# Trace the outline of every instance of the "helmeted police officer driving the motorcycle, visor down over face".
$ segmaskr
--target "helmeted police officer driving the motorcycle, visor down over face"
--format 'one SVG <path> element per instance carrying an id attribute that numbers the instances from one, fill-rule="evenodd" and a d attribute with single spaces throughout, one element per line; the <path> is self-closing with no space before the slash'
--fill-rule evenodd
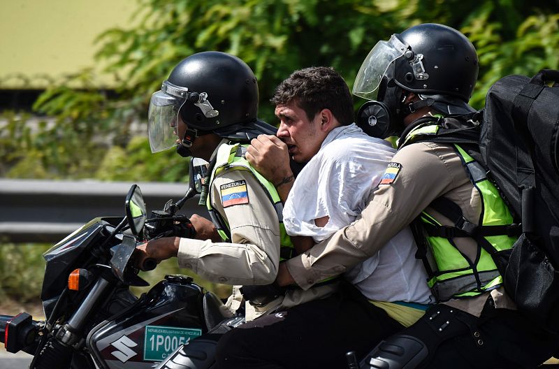
<path id="1" fill-rule="evenodd" d="M 180 61 L 152 95 L 149 136 L 152 152 L 176 147 L 183 157 L 210 162 L 210 222 L 194 215 L 196 239 L 150 240 L 138 247 L 140 259 L 178 257 L 178 264 L 206 280 L 224 284 L 270 284 L 279 260 L 291 256 L 282 237 L 281 202 L 272 184 L 250 168 L 243 144 L 275 128 L 257 120 L 256 77 L 245 62 L 223 52 L 200 52 Z M 183 237 L 181 237 L 183 236 Z M 234 289 L 228 307 L 242 296 Z M 252 306 L 252 305 L 251 305 Z M 250 306 L 249 306 L 250 307 Z M 256 317 L 251 310 L 248 319 Z"/>

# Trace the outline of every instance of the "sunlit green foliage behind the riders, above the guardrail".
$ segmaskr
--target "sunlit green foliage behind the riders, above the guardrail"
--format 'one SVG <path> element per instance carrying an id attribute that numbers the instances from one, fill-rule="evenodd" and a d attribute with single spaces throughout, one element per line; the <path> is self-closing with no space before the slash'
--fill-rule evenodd
<path id="1" fill-rule="evenodd" d="M 7 113 L 0 175 L 23 178 L 183 180 L 180 158 L 151 155 L 134 124 L 145 124 L 150 95 L 178 61 L 203 50 L 230 52 L 259 79 L 260 115 L 275 123 L 268 102 L 293 70 L 330 65 L 353 84 L 361 61 L 380 39 L 421 22 L 463 31 L 477 47 L 481 70 L 472 105 L 511 74 L 558 68 L 558 1 L 520 0 L 138 0 L 138 26 L 97 38 L 96 58 L 119 81 L 113 93 L 92 87 L 86 68 L 36 101 L 51 117 L 31 129 L 29 116 Z M 17 121 L 17 124 L 15 124 Z M 32 133 L 31 133 L 32 132 Z M 145 132 L 145 131 L 143 131 Z M 145 133 L 140 133 L 145 134 Z M 146 146 L 147 147 L 147 146 Z M 134 169 L 133 169 L 134 168 Z"/>

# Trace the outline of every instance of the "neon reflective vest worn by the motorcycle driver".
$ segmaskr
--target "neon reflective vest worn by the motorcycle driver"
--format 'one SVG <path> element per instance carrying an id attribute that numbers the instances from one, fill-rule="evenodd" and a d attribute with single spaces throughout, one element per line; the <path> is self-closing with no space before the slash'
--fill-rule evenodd
<path id="1" fill-rule="evenodd" d="M 279 238 L 280 238 L 280 249 L 279 249 L 279 259 L 286 260 L 291 259 L 295 255 L 295 249 L 291 243 L 291 238 L 285 231 L 283 223 L 283 203 L 277 194 L 272 182 L 263 178 L 263 176 L 258 173 L 250 163 L 245 159 L 245 152 L 248 145 L 240 145 L 240 143 L 234 144 L 223 144 L 217 149 L 217 156 L 215 161 L 215 166 L 210 175 L 210 186 L 215 178 L 215 175 L 219 175 L 222 171 L 249 171 L 254 175 L 254 177 L 261 184 L 262 188 L 268 194 L 268 198 L 272 202 L 277 213 L 277 219 L 279 219 Z M 210 191 L 210 196 L 206 201 L 206 206 L 208 207 L 208 212 L 210 212 L 210 217 L 212 222 L 217 227 L 217 232 L 219 236 L 222 236 L 223 240 L 231 240 L 231 232 L 229 230 L 229 225 L 226 220 L 219 214 L 214 208 L 212 208 L 212 191 Z"/>

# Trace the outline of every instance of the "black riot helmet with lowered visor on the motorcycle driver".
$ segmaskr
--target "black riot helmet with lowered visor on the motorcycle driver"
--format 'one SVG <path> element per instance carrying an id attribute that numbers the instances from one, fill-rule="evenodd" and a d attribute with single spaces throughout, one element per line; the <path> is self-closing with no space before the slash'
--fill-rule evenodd
<path id="1" fill-rule="evenodd" d="M 216 51 L 191 55 L 152 95 L 148 114 L 152 152 L 174 147 L 177 139 L 181 142 L 177 149 L 189 148 L 197 136 L 210 132 L 233 140 L 273 134 L 273 126 L 256 119 L 258 101 L 256 77 L 244 61 Z M 179 116 L 188 129 L 177 138 Z"/>

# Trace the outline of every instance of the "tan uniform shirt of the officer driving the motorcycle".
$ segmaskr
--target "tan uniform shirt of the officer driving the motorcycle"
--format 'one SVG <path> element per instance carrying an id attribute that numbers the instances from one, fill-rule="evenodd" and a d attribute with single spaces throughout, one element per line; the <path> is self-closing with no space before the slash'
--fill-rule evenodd
<path id="1" fill-rule="evenodd" d="M 222 186 L 242 180 L 247 186 L 248 202 L 224 207 Z M 270 284 L 275 280 L 279 265 L 279 219 L 266 190 L 249 171 L 222 171 L 215 176 L 210 191 L 212 207 L 229 224 L 231 243 L 181 238 L 178 264 L 205 280 L 237 285 L 227 303 L 234 312 L 242 301 L 238 287 Z M 247 303 L 246 318 L 249 321 L 269 310 L 299 305 L 327 296 L 332 291 L 330 285 L 308 291 L 288 291 L 286 296 L 259 308 Z"/>

